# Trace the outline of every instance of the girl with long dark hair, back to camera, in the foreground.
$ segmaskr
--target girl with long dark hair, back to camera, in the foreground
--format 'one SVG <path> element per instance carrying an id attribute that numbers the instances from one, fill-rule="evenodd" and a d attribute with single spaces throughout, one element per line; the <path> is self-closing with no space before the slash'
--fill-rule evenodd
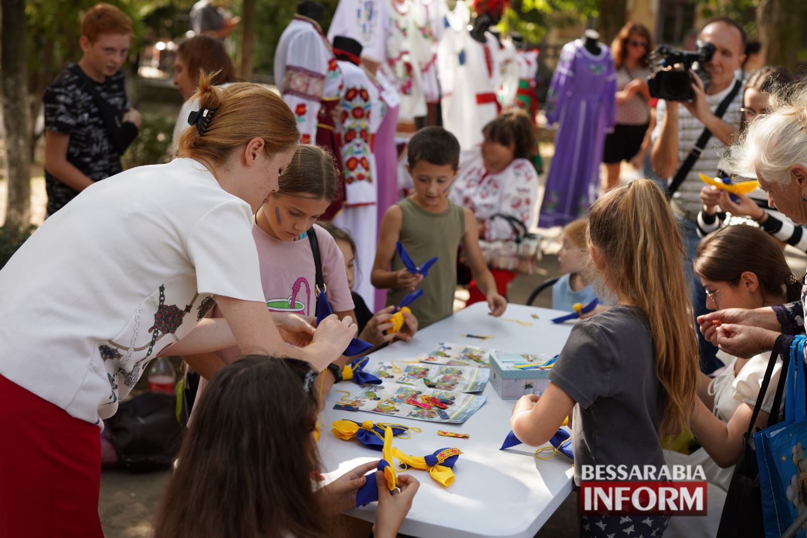
<path id="1" fill-rule="evenodd" d="M 399 474 L 400 491 L 390 494 L 383 473 L 365 476 L 378 463 L 370 461 L 328 486 L 312 481 L 320 476 L 315 378 L 306 362 L 262 356 L 216 373 L 182 441 L 154 538 L 339 536 L 338 515 L 367 480 L 382 486 L 374 536 L 397 536 L 415 478 Z"/>

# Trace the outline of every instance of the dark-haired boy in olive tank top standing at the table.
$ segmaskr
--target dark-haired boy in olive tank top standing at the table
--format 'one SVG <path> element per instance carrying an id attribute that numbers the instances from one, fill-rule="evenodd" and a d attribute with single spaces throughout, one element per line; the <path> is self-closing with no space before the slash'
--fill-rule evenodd
<path id="1" fill-rule="evenodd" d="M 462 242 L 479 290 L 485 294 L 491 315 L 504 314 L 507 301 L 496 292 L 493 275 L 479 250 L 479 227 L 469 209 L 448 199 L 457 175 L 459 143 L 442 127 L 425 127 L 409 140 L 407 170 L 415 194 L 391 206 L 381 221 L 370 282 L 387 288 L 387 306 L 398 304 L 406 294 L 423 290 L 423 296 L 409 307 L 420 328 L 448 317 L 454 311 L 457 288 L 457 248 Z M 433 256 L 439 260 L 429 276 L 409 273 L 395 252 L 400 241 L 415 263 Z"/>

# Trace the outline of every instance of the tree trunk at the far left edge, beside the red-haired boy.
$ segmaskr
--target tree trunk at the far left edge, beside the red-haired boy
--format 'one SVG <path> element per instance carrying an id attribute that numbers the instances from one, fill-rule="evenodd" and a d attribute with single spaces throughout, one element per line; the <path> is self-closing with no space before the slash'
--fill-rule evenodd
<path id="1" fill-rule="evenodd" d="M 31 136 L 28 131 L 25 1 L 2 0 L 2 112 L 6 134 L 6 226 L 31 223 Z"/>

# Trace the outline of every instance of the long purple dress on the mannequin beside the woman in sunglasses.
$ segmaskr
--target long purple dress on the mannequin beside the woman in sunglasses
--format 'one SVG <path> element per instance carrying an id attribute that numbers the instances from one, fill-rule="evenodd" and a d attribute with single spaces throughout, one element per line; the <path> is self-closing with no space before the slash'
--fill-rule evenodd
<path id="1" fill-rule="evenodd" d="M 539 227 L 563 226 L 596 199 L 605 131 L 613 128 L 617 77 L 611 52 L 588 52 L 580 40 L 563 46 L 546 97 L 546 121 L 558 123 Z"/>

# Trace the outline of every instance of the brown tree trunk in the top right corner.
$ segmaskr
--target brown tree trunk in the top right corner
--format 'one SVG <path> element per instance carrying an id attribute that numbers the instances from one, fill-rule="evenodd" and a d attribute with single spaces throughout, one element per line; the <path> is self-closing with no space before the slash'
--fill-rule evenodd
<path id="1" fill-rule="evenodd" d="M 805 14 L 804 0 L 759 0 L 756 19 L 766 65 L 784 65 L 797 72 Z"/>

